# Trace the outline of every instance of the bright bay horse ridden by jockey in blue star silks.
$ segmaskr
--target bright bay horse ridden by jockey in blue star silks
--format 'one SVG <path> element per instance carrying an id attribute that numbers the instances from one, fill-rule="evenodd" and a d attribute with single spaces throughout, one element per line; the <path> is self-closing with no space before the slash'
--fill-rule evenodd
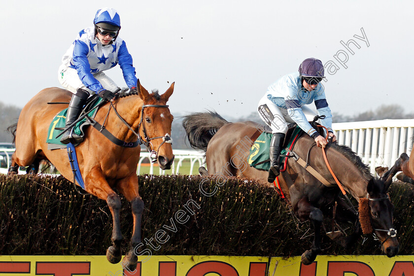
<path id="1" fill-rule="evenodd" d="M 158 160 L 160 168 L 170 169 L 174 155 L 168 140 L 173 116 L 166 103 L 173 90 L 174 83 L 162 95 L 159 95 L 158 91 L 149 93 L 138 80 L 137 92 L 124 94 L 122 98 L 116 97 L 112 102 L 106 102 L 98 109 L 95 120 L 126 145 L 136 143 L 137 139 L 143 141 L 152 149 L 153 158 Z M 39 161 L 48 160 L 66 179 L 74 181 L 67 149 L 49 150 L 46 143 L 50 123 L 55 115 L 66 107 L 63 104 L 48 102 L 69 103 L 71 95 L 71 92 L 64 89 L 46 88 L 25 105 L 17 126 L 12 129 L 16 151 L 12 155 L 11 166 L 33 166 L 37 172 Z M 138 132 L 139 137 L 133 130 Z M 75 151 L 85 190 L 106 200 L 112 214 L 112 246 L 107 249 L 106 257 L 114 264 L 119 263 L 122 258 L 123 236 L 119 214 L 121 199 L 113 189 L 116 188 L 131 203 L 134 218 L 133 234 L 131 247 L 124 257 L 123 264 L 130 271 L 134 271 L 138 261 L 134 248 L 141 243 L 141 215 L 144 209 L 144 203 L 138 193 L 136 174 L 141 149 L 139 146 L 115 145 L 100 131 L 89 126 L 85 131 L 85 139 Z"/>

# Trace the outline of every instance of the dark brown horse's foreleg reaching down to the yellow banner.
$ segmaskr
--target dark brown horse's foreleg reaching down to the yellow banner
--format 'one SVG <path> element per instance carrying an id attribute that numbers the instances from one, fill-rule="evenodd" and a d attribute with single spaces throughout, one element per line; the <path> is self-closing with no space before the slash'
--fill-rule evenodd
<path id="1" fill-rule="evenodd" d="M 322 211 L 311 205 L 308 198 L 302 198 L 297 205 L 297 214 L 301 221 L 311 220 L 315 231 L 312 247 L 302 254 L 301 262 L 304 265 L 310 265 L 315 259 L 320 250 L 320 228 L 322 225 L 323 215 Z"/>

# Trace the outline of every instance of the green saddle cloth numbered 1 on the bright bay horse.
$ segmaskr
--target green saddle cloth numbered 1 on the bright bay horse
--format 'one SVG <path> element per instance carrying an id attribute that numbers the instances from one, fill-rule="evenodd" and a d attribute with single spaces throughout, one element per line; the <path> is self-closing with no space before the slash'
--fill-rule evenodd
<path id="1" fill-rule="evenodd" d="M 102 101 L 101 98 L 99 98 L 98 100 L 96 100 L 91 107 L 89 107 L 89 109 L 94 108 L 95 106 L 97 106 L 100 102 Z M 97 112 L 98 108 L 91 110 L 90 112 L 88 112 L 88 116 L 90 118 L 95 118 L 96 112 Z M 68 108 L 65 108 L 64 110 L 62 110 L 61 112 L 59 112 L 52 120 L 52 123 L 50 123 L 49 125 L 49 130 L 48 130 L 48 135 L 47 135 L 47 139 L 46 139 L 46 143 L 49 144 L 55 144 L 55 145 L 62 145 L 65 146 L 66 145 L 62 144 L 60 142 L 60 139 L 62 136 L 59 136 L 58 138 L 56 138 L 56 136 L 58 136 L 63 130 L 61 129 L 56 129 L 56 128 L 65 128 L 65 124 L 66 124 L 66 114 L 68 113 Z M 78 134 L 79 136 L 83 137 L 85 135 L 83 128 L 86 127 L 87 125 L 89 125 L 88 122 L 86 122 L 87 118 L 83 118 L 82 120 L 80 120 L 79 122 L 77 122 L 73 128 L 73 131 Z"/>

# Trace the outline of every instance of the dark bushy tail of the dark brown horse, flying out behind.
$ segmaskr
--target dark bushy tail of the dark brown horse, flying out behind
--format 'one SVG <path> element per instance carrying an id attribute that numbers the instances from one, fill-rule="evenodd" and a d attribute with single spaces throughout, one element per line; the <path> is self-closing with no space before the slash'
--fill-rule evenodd
<path id="1" fill-rule="evenodd" d="M 184 116 L 182 126 L 187 133 L 190 146 L 197 150 L 207 151 L 208 142 L 217 130 L 227 122 L 215 111 L 195 112 Z"/>

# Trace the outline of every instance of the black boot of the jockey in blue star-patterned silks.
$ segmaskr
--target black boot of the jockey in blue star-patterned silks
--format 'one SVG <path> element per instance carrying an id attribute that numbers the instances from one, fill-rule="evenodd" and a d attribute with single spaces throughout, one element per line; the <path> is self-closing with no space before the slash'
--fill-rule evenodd
<path id="1" fill-rule="evenodd" d="M 68 127 L 70 124 L 76 121 L 76 119 L 79 117 L 79 114 L 82 111 L 83 105 L 86 102 L 86 99 L 88 98 L 89 94 L 85 91 L 78 90 L 76 94 L 72 95 L 72 98 L 70 99 L 68 112 L 66 114 L 66 124 L 65 128 Z M 61 138 L 62 144 L 77 144 L 82 141 L 82 137 L 77 135 L 73 131 L 73 127 L 71 129 L 68 129 Z"/>

